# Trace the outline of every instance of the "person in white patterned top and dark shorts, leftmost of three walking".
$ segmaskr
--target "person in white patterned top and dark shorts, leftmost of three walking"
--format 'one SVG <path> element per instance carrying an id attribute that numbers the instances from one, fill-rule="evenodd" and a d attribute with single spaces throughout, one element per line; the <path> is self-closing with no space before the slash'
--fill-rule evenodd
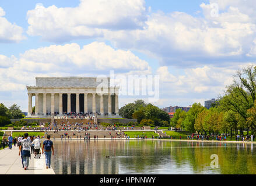
<path id="1" fill-rule="evenodd" d="M 20 151 L 22 150 L 22 159 L 23 159 L 23 164 L 24 164 L 24 170 L 27 170 L 29 167 L 29 159 L 30 159 L 30 148 L 31 148 L 31 140 L 29 140 L 27 137 L 29 134 L 25 133 L 24 134 L 24 140 L 22 140 L 22 147 L 20 146 L 19 150 L 19 156 L 20 156 Z"/>

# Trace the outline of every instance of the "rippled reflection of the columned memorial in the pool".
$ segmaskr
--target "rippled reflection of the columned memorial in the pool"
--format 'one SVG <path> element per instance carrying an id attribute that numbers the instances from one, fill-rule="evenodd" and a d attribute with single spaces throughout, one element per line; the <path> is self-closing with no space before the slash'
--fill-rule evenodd
<path id="1" fill-rule="evenodd" d="M 55 141 L 52 168 L 56 174 L 118 174 L 116 143 L 106 141 Z"/>

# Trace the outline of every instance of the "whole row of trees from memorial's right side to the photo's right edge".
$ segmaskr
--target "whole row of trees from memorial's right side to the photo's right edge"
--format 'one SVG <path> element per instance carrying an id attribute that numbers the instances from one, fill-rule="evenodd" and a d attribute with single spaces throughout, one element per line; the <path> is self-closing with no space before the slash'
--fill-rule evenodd
<path id="1" fill-rule="evenodd" d="M 124 118 L 137 119 L 140 126 L 172 126 L 190 133 L 247 134 L 256 132 L 256 66 L 237 70 L 233 83 L 218 96 L 218 101 L 208 110 L 194 103 L 185 112 L 176 110 L 174 117 L 142 99 L 128 103 L 120 109 Z"/>

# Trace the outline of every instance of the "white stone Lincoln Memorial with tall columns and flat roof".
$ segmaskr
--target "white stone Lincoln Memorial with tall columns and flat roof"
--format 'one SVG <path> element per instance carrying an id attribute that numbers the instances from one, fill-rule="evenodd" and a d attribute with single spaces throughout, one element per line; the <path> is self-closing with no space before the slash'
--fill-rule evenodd
<path id="1" fill-rule="evenodd" d="M 35 116 L 54 113 L 62 116 L 71 112 L 118 116 L 118 90 L 110 87 L 110 78 L 36 77 L 36 86 L 27 86 L 28 116 L 32 114 L 33 96 Z"/>

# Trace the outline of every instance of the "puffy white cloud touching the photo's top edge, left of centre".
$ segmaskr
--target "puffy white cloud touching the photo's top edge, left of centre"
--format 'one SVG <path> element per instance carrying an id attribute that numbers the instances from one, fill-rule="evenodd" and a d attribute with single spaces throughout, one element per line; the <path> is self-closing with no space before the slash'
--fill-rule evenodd
<path id="1" fill-rule="evenodd" d="M 103 31 L 142 28 L 144 0 L 80 0 L 75 8 L 45 8 L 39 3 L 27 12 L 27 33 L 44 40 L 63 42 L 74 38 L 102 37 Z"/>

